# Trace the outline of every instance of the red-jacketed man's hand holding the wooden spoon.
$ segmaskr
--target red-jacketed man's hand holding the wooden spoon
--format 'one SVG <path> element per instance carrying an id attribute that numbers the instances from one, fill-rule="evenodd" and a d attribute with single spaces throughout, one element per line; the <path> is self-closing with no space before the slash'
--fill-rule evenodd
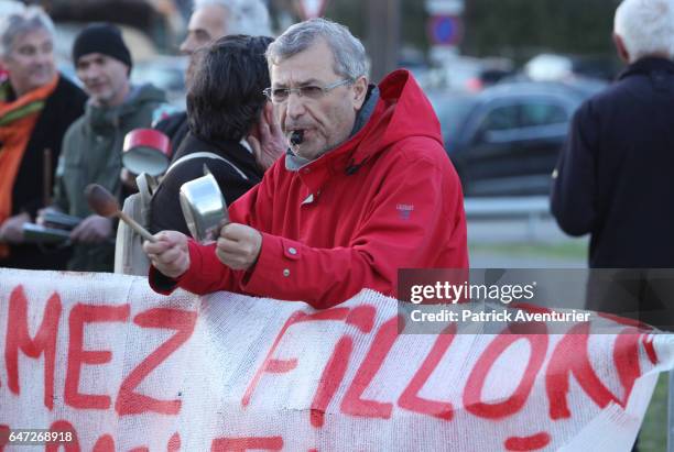
<path id="1" fill-rule="evenodd" d="M 143 243 L 143 251 L 154 268 L 170 278 L 177 278 L 189 268 L 187 235 L 177 231 L 162 231 L 154 235 L 156 242 Z"/>

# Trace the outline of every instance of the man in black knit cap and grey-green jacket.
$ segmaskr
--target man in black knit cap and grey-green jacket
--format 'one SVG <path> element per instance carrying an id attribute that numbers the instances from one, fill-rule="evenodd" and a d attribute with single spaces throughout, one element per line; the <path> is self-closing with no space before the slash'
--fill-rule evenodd
<path id="1" fill-rule="evenodd" d="M 84 29 L 73 45 L 73 62 L 89 102 L 65 135 L 54 208 L 84 219 L 70 234 L 75 245 L 68 269 L 111 272 L 115 225 L 89 210 L 84 189 L 99 184 L 120 202 L 129 195 L 119 178 L 123 137 L 133 129 L 149 128 L 166 99 L 152 85 L 131 85 L 131 54 L 112 24 Z"/>

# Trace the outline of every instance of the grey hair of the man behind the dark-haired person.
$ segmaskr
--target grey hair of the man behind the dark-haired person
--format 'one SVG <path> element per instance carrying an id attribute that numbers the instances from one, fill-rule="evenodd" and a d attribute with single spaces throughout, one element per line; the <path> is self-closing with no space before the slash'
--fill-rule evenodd
<path id="1" fill-rule="evenodd" d="M 227 10 L 227 34 L 271 36 L 269 10 L 262 0 L 195 0 L 194 9 L 211 4 Z"/>

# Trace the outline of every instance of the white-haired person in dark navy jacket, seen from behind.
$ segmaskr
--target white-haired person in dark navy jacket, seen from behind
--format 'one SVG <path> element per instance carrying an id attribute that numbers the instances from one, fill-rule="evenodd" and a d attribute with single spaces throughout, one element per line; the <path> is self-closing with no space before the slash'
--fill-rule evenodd
<path id="1" fill-rule="evenodd" d="M 671 329 L 674 1 L 624 0 L 613 41 L 628 66 L 575 113 L 552 212 L 566 233 L 590 234 L 588 309 Z"/>

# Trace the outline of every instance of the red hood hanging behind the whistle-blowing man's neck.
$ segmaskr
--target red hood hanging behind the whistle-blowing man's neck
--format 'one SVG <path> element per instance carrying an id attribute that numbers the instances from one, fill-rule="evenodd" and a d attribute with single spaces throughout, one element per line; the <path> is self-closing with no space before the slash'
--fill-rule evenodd
<path id="1" fill-rule="evenodd" d="M 370 121 L 351 140 L 356 144 L 354 164 L 382 152 L 391 144 L 410 136 L 426 136 L 443 144 L 439 121 L 414 77 L 399 69 L 379 84 L 380 98 Z"/>

